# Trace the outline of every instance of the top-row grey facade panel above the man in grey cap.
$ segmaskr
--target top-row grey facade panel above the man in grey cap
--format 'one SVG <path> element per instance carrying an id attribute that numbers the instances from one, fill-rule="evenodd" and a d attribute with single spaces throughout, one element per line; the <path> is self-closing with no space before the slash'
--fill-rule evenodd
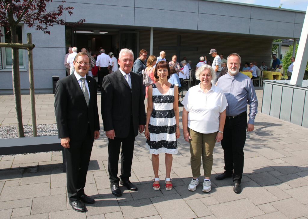
<path id="1" fill-rule="evenodd" d="M 199 1 L 199 13 L 250 18 L 251 6 Z"/>

